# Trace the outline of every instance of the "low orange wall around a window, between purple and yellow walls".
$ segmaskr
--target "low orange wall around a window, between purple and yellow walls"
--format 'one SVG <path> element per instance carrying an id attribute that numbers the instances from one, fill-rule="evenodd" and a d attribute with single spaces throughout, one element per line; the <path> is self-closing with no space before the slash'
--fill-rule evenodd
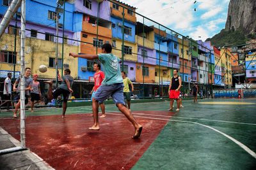
<path id="1" fill-rule="evenodd" d="M 136 82 L 143 83 L 143 74 L 142 74 L 143 64 L 136 64 Z M 145 64 L 145 67 L 148 67 L 148 76 L 144 76 L 145 83 L 155 83 L 155 67 Z M 140 69 L 138 69 L 140 67 Z"/>

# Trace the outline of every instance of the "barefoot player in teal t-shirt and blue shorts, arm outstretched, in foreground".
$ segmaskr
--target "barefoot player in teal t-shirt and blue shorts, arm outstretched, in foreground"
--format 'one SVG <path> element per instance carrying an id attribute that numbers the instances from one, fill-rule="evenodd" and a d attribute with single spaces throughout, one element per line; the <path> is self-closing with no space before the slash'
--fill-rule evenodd
<path id="1" fill-rule="evenodd" d="M 81 57 L 84 59 L 95 60 L 99 59 L 104 67 L 105 78 L 102 81 L 102 85 L 96 91 L 95 96 L 92 100 L 92 109 L 93 109 L 93 121 L 94 124 L 90 127 L 90 130 L 99 131 L 99 108 L 98 103 L 103 103 L 109 96 L 113 98 L 118 109 L 124 113 L 125 117 L 132 123 L 134 126 L 135 132 L 133 139 L 139 138 L 142 126 L 136 122 L 135 118 L 132 116 L 131 111 L 125 107 L 124 102 L 124 83 L 123 78 L 121 76 L 119 62 L 120 59 L 111 53 L 112 46 L 109 43 L 102 45 L 102 53 L 98 55 L 91 54 L 75 54 L 69 53 L 72 57 Z"/>

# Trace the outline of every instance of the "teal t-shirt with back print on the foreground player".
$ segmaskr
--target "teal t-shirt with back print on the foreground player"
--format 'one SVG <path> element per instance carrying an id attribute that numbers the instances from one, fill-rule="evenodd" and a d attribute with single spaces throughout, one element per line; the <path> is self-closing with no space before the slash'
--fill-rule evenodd
<path id="1" fill-rule="evenodd" d="M 112 53 L 98 54 L 99 60 L 104 68 L 105 78 L 102 85 L 113 85 L 115 83 L 123 83 L 119 62 L 120 59 Z"/>

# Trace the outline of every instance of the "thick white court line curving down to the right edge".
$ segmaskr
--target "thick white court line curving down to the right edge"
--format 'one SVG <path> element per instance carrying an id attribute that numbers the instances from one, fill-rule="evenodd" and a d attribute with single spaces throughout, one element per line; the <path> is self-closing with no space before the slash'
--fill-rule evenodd
<path id="1" fill-rule="evenodd" d="M 118 116 L 124 116 L 121 114 L 117 114 L 117 113 L 108 113 L 111 115 L 118 115 Z M 141 116 L 134 116 L 134 117 L 139 117 L 139 118 L 149 118 L 149 119 L 153 119 L 153 120 L 166 120 L 166 121 L 172 121 L 172 122 L 183 122 L 183 123 L 189 123 L 189 124 L 196 124 L 196 125 L 202 125 L 204 127 L 207 127 L 208 129 L 211 129 L 212 131 L 218 132 L 220 134 L 222 134 L 223 136 L 225 136 L 226 138 L 230 139 L 231 141 L 233 141 L 234 143 L 236 143 L 238 146 L 240 146 L 241 148 L 243 148 L 243 150 L 245 150 L 247 153 L 249 153 L 250 155 L 252 155 L 253 158 L 256 159 L 256 153 L 253 152 L 252 150 L 250 150 L 250 148 L 248 148 L 247 146 L 245 146 L 243 143 L 237 141 L 236 139 L 232 138 L 231 136 L 229 136 L 228 134 L 225 134 L 224 132 L 218 131 L 217 129 L 214 129 L 213 127 L 210 127 L 209 125 L 204 125 L 204 124 L 199 124 L 197 122 L 190 122 L 190 121 L 184 121 L 184 120 L 170 120 L 170 119 L 165 119 L 165 118 L 152 118 L 152 117 L 141 117 Z"/>

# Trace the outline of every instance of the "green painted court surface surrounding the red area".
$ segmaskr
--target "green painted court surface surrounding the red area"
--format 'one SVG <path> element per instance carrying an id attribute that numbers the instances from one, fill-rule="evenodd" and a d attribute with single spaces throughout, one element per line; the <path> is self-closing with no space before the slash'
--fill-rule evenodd
<path id="1" fill-rule="evenodd" d="M 256 99 L 184 101 L 184 108 L 172 117 L 161 115 L 169 105 L 169 101 L 132 104 L 134 117 L 167 121 L 132 169 L 256 169 Z M 44 108 L 26 115 L 61 117 L 61 111 Z M 118 109 L 109 104 L 107 116 L 108 112 L 115 115 Z M 67 109 L 67 115 L 77 113 L 91 114 L 92 106 Z M 11 116 L 0 113 L 2 118 Z"/>

